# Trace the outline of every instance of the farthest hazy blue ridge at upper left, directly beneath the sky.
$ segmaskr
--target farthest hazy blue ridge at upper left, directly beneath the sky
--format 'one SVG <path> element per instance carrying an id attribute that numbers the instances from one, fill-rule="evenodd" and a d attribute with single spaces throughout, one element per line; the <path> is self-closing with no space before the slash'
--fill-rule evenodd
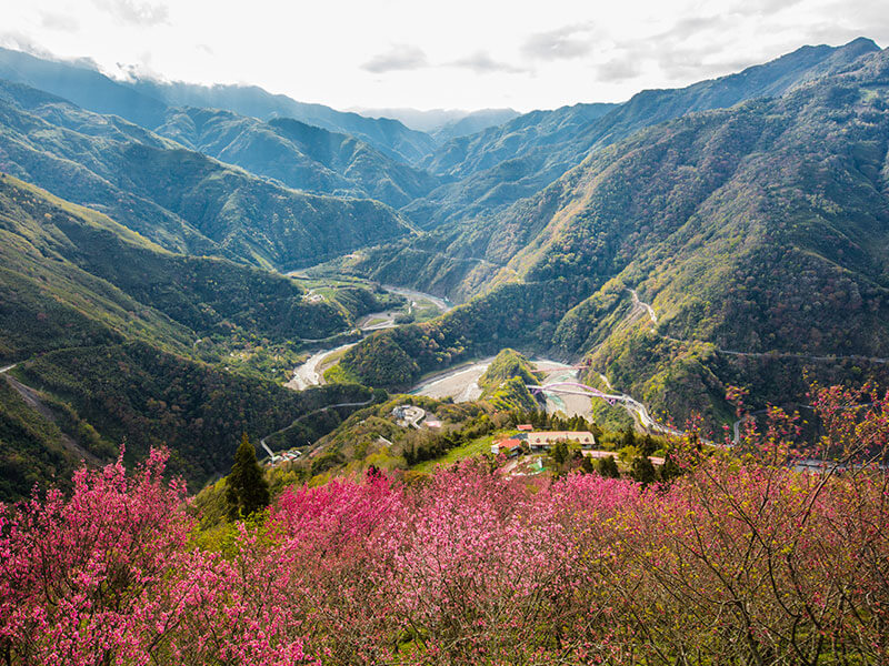
<path id="1" fill-rule="evenodd" d="M 201 107 L 261 120 L 293 118 L 350 134 L 404 162 L 419 161 L 436 144 L 431 137 L 409 130 L 397 120 L 374 120 L 323 104 L 307 104 L 253 85 L 206 87 L 153 79 L 114 81 L 91 63 L 48 60 L 10 49 L 0 49 L 0 79 L 50 92 L 97 113 L 120 115 L 150 130 L 166 121 L 170 107 Z"/>

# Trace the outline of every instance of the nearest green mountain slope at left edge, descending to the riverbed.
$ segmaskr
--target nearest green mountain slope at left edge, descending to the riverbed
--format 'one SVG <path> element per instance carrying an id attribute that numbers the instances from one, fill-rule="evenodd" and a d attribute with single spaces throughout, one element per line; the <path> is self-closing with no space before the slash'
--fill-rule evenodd
<path id="1" fill-rule="evenodd" d="M 227 468 L 241 432 L 259 438 L 369 396 L 344 385 L 297 394 L 226 371 L 236 353 L 349 327 L 339 307 L 281 275 L 170 253 L 9 175 L 0 266 L 0 366 L 16 364 L 0 376 L 4 501 L 83 457 L 113 458 L 123 441 L 132 460 L 166 444 L 200 485 Z"/>

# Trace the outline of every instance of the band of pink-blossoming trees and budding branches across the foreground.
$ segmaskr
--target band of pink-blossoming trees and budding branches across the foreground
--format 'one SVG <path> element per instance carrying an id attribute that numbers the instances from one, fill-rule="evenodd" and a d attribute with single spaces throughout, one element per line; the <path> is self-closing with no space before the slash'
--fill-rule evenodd
<path id="1" fill-rule="evenodd" d="M 847 463 L 889 435 L 886 397 L 856 397 L 817 396 Z M 160 453 L 81 471 L 2 514 L 0 662 L 886 663 L 887 475 L 797 472 L 798 447 L 776 413 L 733 451 L 677 443 L 669 487 L 466 463 L 291 488 L 224 556 Z"/>

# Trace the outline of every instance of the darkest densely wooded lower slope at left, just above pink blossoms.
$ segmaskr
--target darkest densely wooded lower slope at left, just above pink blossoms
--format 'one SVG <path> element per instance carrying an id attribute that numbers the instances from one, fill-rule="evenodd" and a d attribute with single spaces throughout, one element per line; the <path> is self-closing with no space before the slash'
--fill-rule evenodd
<path id="1" fill-rule="evenodd" d="M 129 460 L 154 446 L 192 487 L 227 472 L 239 434 L 259 440 L 329 404 L 361 402 L 356 384 L 293 392 L 168 354 L 140 342 L 63 350 L 24 363 L 26 383 L 59 396 Z"/>

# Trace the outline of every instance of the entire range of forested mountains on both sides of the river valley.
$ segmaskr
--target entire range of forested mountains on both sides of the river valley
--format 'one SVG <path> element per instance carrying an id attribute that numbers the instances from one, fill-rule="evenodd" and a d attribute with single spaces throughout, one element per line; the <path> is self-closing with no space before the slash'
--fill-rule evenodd
<path id="1" fill-rule="evenodd" d="M 803 369 L 886 379 L 887 90 L 889 52 L 857 39 L 623 103 L 402 123 L 2 50 L 0 365 L 27 361 L 96 455 L 133 431 L 140 451 L 188 448 L 176 422 L 201 442 L 176 464 L 201 482 L 239 428 L 283 427 L 308 400 L 232 371 L 234 341 L 336 336 L 372 307 L 311 305 L 280 275 L 323 262 L 467 302 L 350 350 L 368 386 L 518 346 L 718 426 L 729 384 L 761 405 L 798 401 Z M 237 414 L 207 397 L 221 385 Z M 13 421 L 0 441 L 39 458 L 51 437 Z M 32 481 L 12 448 L 9 493 Z"/>

